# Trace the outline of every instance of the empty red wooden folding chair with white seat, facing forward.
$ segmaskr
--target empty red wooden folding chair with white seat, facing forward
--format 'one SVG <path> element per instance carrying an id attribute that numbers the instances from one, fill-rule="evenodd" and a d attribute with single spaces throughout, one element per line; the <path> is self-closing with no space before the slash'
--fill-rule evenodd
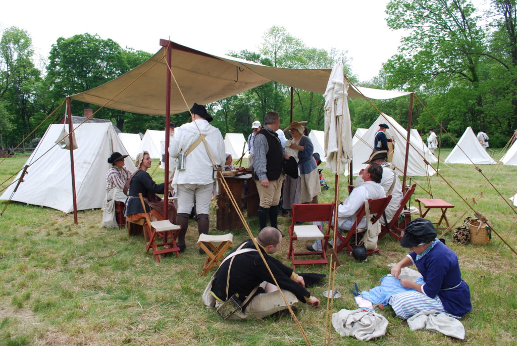
<path id="1" fill-rule="evenodd" d="M 332 220 L 332 212 L 334 210 L 334 203 L 328 204 L 293 204 L 291 213 L 291 225 L 289 227 L 289 251 L 287 259 L 291 258 L 293 261 L 293 268 L 297 265 L 305 264 L 325 264 L 328 266 L 327 260 L 327 244 L 330 234 L 330 224 Z M 297 222 L 311 222 L 323 221 L 328 222 L 327 230 L 323 230 L 319 225 L 297 225 Z M 310 252 L 296 252 L 294 244 L 296 240 L 316 240 L 320 239 L 322 242 L 322 251 Z M 317 255 L 318 259 L 298 260 L 296 256 Z"/>

